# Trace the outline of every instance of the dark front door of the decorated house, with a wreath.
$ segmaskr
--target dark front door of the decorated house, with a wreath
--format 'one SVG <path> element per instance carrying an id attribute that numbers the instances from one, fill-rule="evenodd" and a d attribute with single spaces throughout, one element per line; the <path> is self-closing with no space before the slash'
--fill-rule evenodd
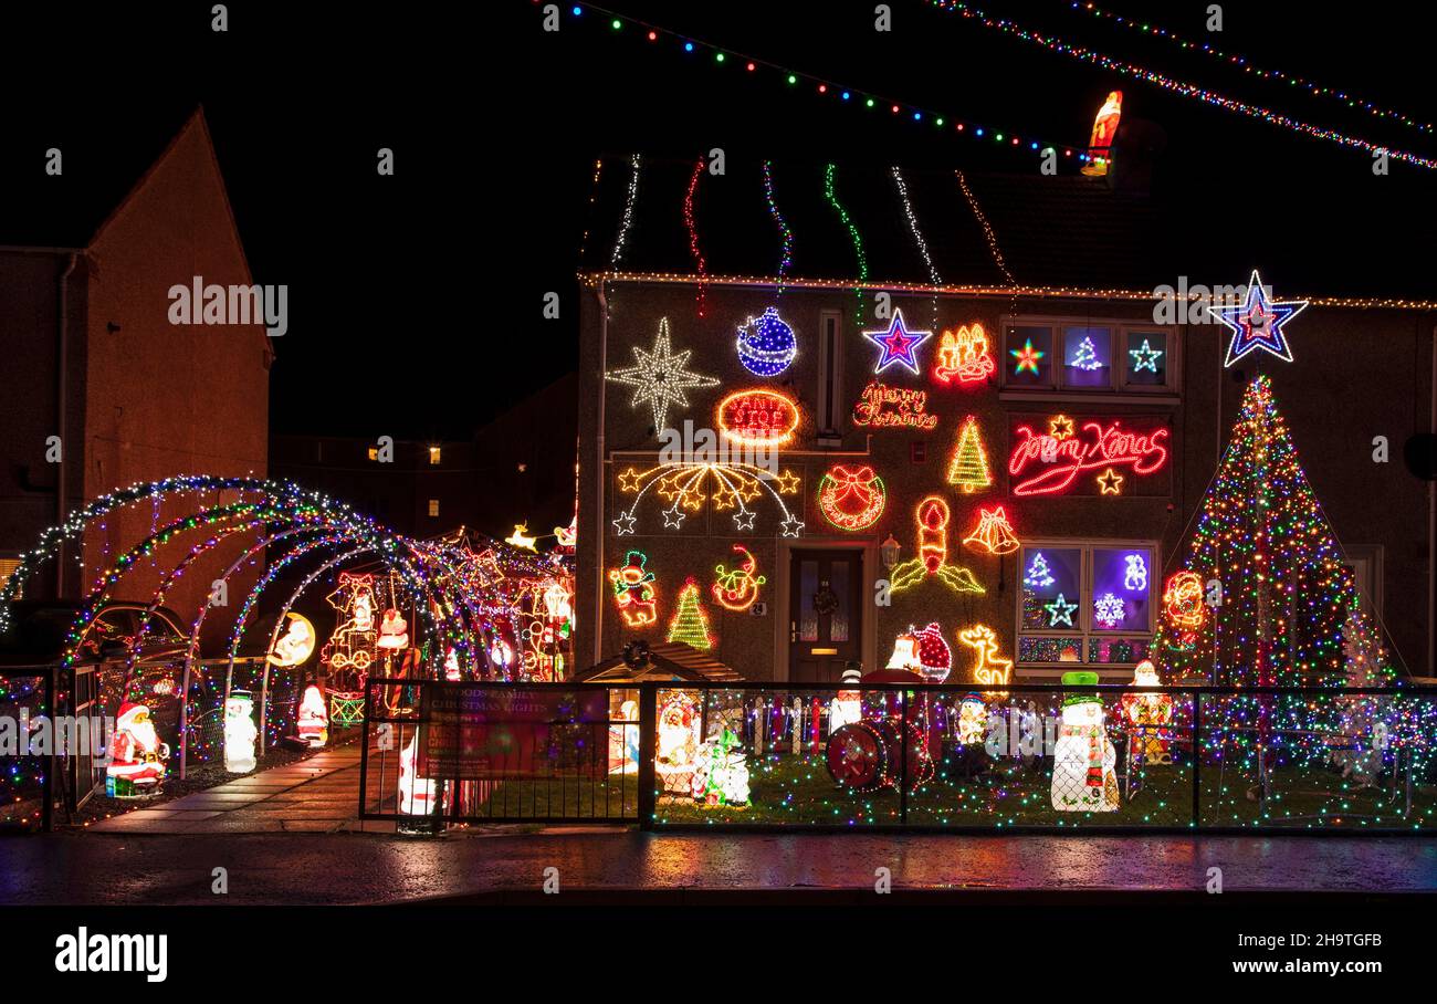
<path id="1" fill-rule="evenodd" d="M 789 680 L 838 683 L 862 659 L 862 551 L 790 552 Z"/>

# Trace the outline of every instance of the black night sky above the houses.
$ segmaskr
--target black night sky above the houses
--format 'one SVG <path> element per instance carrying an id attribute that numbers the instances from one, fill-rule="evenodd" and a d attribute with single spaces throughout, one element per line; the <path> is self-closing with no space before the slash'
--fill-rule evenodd
<path id="1" fill-rule="evenodd" d="M 596 155 L 688 158 L 723 147 L 746 160 L 1036 170 L 1030 155 L 785 92 L 733 62 L 714 68 L 645 45 L 632 29 L 611 37 L 595 12 L 566 14 L 546 35 L 542 4 L 530 0 L 230 4 L 230 30 L 216 35 L 210 6 L 53 4 L 39 20 L 6 6 L 0 243 L 82 240 L 203 104 L 254 278 L 290 286 L 290 332 L 277 342 L 272 383 L 276 432 L 467 436 L 570 371 L 575 327 L 555 335 L 537 314 L 543 292 L 558 289 L 576 318 L 573 269 Z M 1394 164 L 1378 178 L 1365 154 L 1163 93 L 918 0 L 891 4 L 887 35 L 872 30 L 872 3 L 608 6 L 835 83 L 1059 142 L 1083 142 L 1102 96 L 1119 86 L 1125 117 L 1165 134 L 1154 198 L 1194 260 L 1229 255 L 1239 270 L 1260 262 L 1282 275 L 1279 289 L 1437 296 L 1427 273 L 1437 173 Z M 1431 134 L 1255 81 L 1083 17 L 1066 0 L 979 6 L 1437 155 Z M 1112 6 L 1206 37 L 1206 3 Z M 1437 119 L 1423 82 L 1430 40 L 1410 23 L 1410 4 L 1223 9 L 1224 47 Z M 66 150 L 63 186 L 45 187 L 32 170 L 50 145 Z M 397 151 L 392 178 L 375 174 L 379 147 Z"/>

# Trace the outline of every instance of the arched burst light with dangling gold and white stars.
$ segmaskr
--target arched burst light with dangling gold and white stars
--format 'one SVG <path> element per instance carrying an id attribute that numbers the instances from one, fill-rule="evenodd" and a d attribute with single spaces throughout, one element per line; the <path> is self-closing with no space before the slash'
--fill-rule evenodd
<path id="1" fill-rule="evenodd" d="M 667 529 L 681 528 L 688 512 L 697 512 L 711 499 L 714 509 L 733 511 L 736 529 L 752 531 L 757 512 L 749 503 L 767 493 L 783 514 L 779 524 L 783 537 L 798 537 L 803 531 L 803 521 L 783 501 L 785 495 L 798 495 L 800 488 L 800 479 L 792 470 L 775 475 L 766 467 L 737 462 L 661 463 L 648 470 L 629 467 L 619 475 L 618 483 L 621 492 L 635 496 L 634 503 L 612 521 L 618 537 L 634 532 L 639 502 L 650 492 L 671 503 L 662 511 Z M 707 495 L 703 490 L 706 486 Z"/>

